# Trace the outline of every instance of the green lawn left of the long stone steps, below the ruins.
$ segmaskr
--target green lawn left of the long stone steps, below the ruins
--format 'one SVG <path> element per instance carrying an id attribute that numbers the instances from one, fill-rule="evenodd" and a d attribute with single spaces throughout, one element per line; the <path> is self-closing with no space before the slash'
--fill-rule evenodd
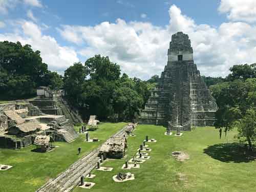
<path id="1" fill-rule="evenodd" d="M 0 148 L 0 164 L 13 166 L 9 170 L 0 172 L 0 191 L 34 192 L 50 178 L 56 177 L 73 162 L 103 143 L 125 124 L 100 124 L 97 131 L 90 132 L 90 137 L 98 137 L 100 142 L 83 142 L 86 138 L 86 135 L 83 134 L 72 143 L 55 142 L 54 145 L 59 147 L 44 154 L 31 152 L 35 148 L 33 145 L 17 151 Z M 78 130 L 79 127 L 75 127 L 75 129 Z M 77 155 L 78 147 L 82 149 L 81 155 Z"/>

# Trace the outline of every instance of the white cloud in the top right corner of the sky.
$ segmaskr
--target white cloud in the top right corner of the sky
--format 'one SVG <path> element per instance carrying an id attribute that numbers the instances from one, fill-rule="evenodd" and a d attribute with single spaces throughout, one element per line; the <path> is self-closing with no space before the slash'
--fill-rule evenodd
<path id="1" fill-rule="evenodd" d="M 233 21 L 256 22 L 255 0 L 221 0 L 219 11 Z"/>

